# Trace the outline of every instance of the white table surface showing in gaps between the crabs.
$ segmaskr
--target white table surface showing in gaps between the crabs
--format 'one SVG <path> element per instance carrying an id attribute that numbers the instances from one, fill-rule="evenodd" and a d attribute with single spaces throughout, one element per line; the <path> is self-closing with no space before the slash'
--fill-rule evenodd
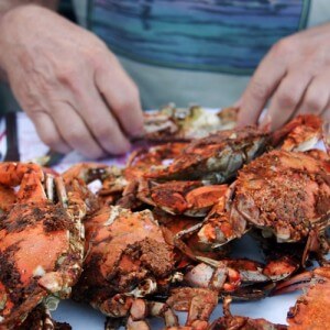
<path id="1" fill-rule="evenodd" d="M 30 161 L 42 155 L 45 155 L 48 151 L 47 146 L 44 145 L 38 139 L 32 122 L 24 113 L 18 114 L 18 128 L 19 128 L 19 150 L 21 161 Z M 6 128 L 3 121 L 0 123 L 0 152 L 2 155 L 6 154 Z M 120 158 L 107 158 L 102 163 L 124 165 L 127 156 Z M 59 172 L 65 170 L 72 164 L 86 161 L 81 155 L 72 153 L 63 158 L 62 163 L 55 168 Z M 243 242 L 245 248 L 243 249 L 246 257 L 258 258 L 255 250 L 251 246 L 249 239 Z M 248 316 L 251 318 L 265 318 L 275 323 L 286 323 L 286 315 L 290 306 L 294 306 L 296 298 L 301 292 L 288 295 L 282 295 L 276 297 L 265 298 L 258 301 L 249 302 L 233 302 L 231 311 L 233 315 Z M 58 321 L 69 322 L 75 330 L 85 329 L 103 329 L 105 316 L 99 311 L 92 309 L 89 306 L 80 305 L 72 300 L 61 301 L 56 311 L 53 316 Z M 221 304 L 216 308 L 211 319 L 216 319 L 222 316 Z M 180 314 L 179 318 L 184 323 L 185 314 Z M 163 329 L 163 322 L 161 320 L 153 319 L 151 321 L 152 329 Z"/>

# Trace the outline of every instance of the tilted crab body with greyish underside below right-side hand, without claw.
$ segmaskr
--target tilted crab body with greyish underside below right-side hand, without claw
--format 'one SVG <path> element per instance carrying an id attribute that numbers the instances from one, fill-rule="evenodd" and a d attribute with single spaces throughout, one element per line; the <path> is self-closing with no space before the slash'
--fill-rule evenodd
<path id="1" fill-rule="evenodd" d="M 220 131 L 193 141 L 166 168 L 145 175 L 154 179 L 200 179 L 222 184 L 230 179 L 243 164 L 261 154 L 267 133 L 248 127 L 242 130 Z"/>

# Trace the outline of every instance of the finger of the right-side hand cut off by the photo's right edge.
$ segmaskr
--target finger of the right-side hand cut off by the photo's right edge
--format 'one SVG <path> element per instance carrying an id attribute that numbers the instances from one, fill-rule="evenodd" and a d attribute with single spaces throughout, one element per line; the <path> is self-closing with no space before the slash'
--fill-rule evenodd
<path id="1" fill-rule="evenodd" d="M 328 106 L 330 90 L 328 88 L 330 75 L 327 73 L 316 76 L 305 92 L 299 105 L 297 114 L 315 113 L 320 114 Z"/>

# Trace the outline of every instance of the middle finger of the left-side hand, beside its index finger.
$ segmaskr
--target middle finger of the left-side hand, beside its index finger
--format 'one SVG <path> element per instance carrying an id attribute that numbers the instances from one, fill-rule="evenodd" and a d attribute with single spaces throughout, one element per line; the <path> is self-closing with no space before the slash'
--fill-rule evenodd
<path id="1" fill-rule="evenodd" d="M 88 86 L 88 94 L 80 95 L 79 114 L 86 125 L 102 146 L 110 154 L 123 154 L 131 147 L 129 140 L 120 129 L 117 119 L 101 98 L 95 86 Z"/>

